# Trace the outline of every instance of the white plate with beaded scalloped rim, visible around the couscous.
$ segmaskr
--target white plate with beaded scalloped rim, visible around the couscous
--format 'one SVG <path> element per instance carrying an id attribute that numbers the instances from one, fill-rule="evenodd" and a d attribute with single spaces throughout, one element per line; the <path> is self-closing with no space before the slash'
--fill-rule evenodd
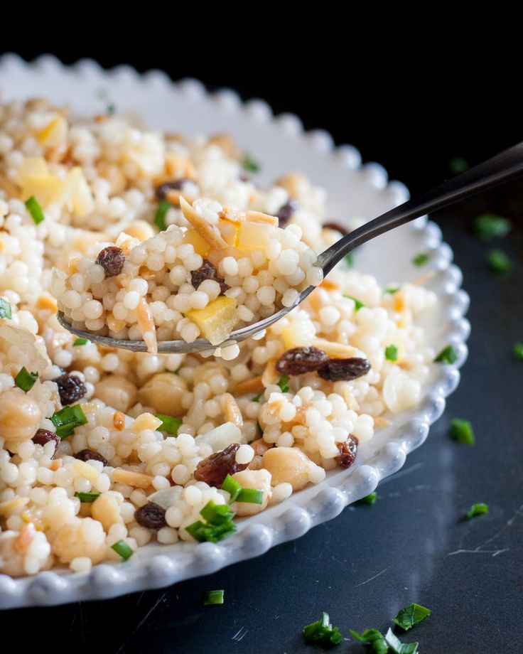
<path id="1" fill-rule="evenodd" d="M 289 170 L 306 172 L 328 191 L 330 216 L 335 220 L 374 218 L 408 198 L 403 184 L 387 183 L 382 166 L 362 166 L 360 154 L 351 146 L 334 149 L 326 132 L 305 133 L 295 116 L 274 117 L 265 102 L 242 104 L 230 90 L 208 95 L 195 80 L 173 84 L 159 71 L 140 76 L 126 66 L 104 71 L 90 60 L 66 68 L 48 55 L 31 64 L 5 55 L 0 59 L 0 88 L 5 100 L 45 96 L 84 114 L 103 109 L 99 92 L 104 90 L 117 101 L 119 111 L 139 112 L 152 127 L 187 134 L 230 132 L 262 162 L 262 183 Z M 468 295 L 460 289 L 461 272 L 451 264 L 451 248 L 441 242 L 439 228 L 426 218 L 379 237 L 357 253 L 357 268 L 388 284 L 419 275 L 411 259 L 423 251 L 432 253 L 436 275 L 428 287 L 439 299 L 424 327 L 436 350 L 452 343 L 458 361 L 453 366 L 433 366 L 419 407 L 394 416 L 390 427 L 363 444 L 354 466 L 328 473 L 318 486 L 240 520 L 237 535 L 216 545 L 148 545 L 129 562 L 97 565 L 90 574 L 58 569 L 23 579 L 0 575 L 0 608 L 114 597 L 215 572 L 334 518 L 346 505 L 372 492 L 380 479 L 399 470 L 406 455 L 424 442 L 429 425 L 445 408 L 446 396 L 458 385 L 470 332 L 463 317 Z"/>

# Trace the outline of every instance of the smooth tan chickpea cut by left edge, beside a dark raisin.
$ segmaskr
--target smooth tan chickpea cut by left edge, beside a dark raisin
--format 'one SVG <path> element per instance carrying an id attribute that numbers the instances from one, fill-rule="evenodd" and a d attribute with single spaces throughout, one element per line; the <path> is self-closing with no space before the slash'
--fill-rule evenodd
<path id="1" fill-rule="evenodd" d="M 0 395 L 0 436 L 7 445 L 32 439 L 41 419 L 40 407 L 23 391 L 6 390 Z"/>

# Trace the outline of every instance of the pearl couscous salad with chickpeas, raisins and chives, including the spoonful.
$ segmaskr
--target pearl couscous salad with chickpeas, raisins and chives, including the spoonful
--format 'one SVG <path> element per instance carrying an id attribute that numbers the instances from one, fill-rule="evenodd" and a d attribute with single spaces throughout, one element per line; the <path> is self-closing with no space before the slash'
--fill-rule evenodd
<path id="1" fill-rule="evenodd" d="M 259 188 L 225 135 L 0 106 L 1 573 L 221 540 L 419 402 L 436 296 L 343 266 L 322 282 L 315 252 L 340 237 L 325 203 L 298 173 Z M 256 341 L 155 353 L 218 345 L 309 284 Z M 72 336 L 59 308 L 150 351 Z"/>

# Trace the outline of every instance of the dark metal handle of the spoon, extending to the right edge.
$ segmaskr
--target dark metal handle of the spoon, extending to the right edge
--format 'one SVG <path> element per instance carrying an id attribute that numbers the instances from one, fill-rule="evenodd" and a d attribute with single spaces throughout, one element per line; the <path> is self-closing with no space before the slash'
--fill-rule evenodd
<path id="1" fill-rule="evenodd" d="M 407 200 L 362 227 L 358 227 L 322 252 L 318 256 L 317 265 L 323 268 L 325 276 L 346 254 L 375 236 L 519 175 L 523 175 L 523 143 L 500 152 L 492 159 L 483 161 L 482 164 L 448 179 L 431 191 L 419 195 L 418 198 Z"/>

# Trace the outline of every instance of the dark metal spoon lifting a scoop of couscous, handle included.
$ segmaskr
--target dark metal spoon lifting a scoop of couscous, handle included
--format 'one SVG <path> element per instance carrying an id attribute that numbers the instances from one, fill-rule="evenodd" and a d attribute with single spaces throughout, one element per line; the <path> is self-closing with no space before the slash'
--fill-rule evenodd
<path id="1" fill-rule="evenodd" d="M 362 227 L 358 227 L 357 230 L 350 232 L 350 234 L 341 238 L 334 245 L 331 245 L 328 250 L 318 254 L 316 266 L 323 269 L 323 277 L 326 277 L 333 267 L 351 250 L 354 250 L 355 247 L 362 245 L 362 243 L 371 240 L 375 236 L 379 236 L 384 232 L 394 229 L 394 227 L 408 223 L 409 220 L 414 220 L 427 213 L 442 209 L 447 205 L 458 202 L 458 200 L 467 198 L 469 195 L 485 191 L 487 188 L 492 188 L 492 186 L 497 186 L 497 184 L 509 181 L 522 174 L 523 143 L 502 151 L 500 154 L 492 157 L 492 159 L 487 159 L 482 164 L 474 166 L 474 168 L 470 168 L 465 173 L 461 173 L 436 186 L 431 191 L 424 193 L 424 195 L 420 195 L 419 198 L 408 200 L 402 205 L 399 205 L 399 207 L 387 211 L 387 213 L 374 218 L 369 223 L 365 223 Z M 205 350 L 214 350 L 217 347 L 234 345 L 234 343 L 244 341 L 246 338 L 252 338 L 252 336 L 255 336 L 280 318 L 286 316 L 289 311 L 292 311 L 298 304 L 303 302 L 312 293 L 314 288 L 314 286 L 309 286 L 304 291 L 301 291 L 293 306 L 286 306 L 276 311 L 269 318 L 264 318 L 262 321 L 232 332 L 230 338 L 220 343 L 220 345 L 212 345 L 205 338 L 198 338 L 193 343 L 185 343 L 185 341 L 159 341 L 158 352 L 203 352 Z M 90 341 L 96 341 L 112 348 L 133 350 L 134 352 L 147 351 L 147 345 L 144 341 L 119 341 L 116 338 L 109 338 L 109 336 L 98 336 L 97 334 L 73 328 L 65 320 L 61 311 L 58 312 L 58 321 L 68 331 L 82 338 L 88 338 Z"/>

